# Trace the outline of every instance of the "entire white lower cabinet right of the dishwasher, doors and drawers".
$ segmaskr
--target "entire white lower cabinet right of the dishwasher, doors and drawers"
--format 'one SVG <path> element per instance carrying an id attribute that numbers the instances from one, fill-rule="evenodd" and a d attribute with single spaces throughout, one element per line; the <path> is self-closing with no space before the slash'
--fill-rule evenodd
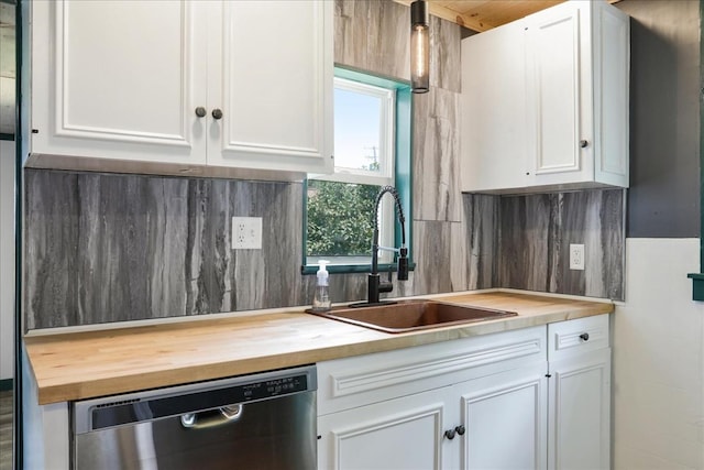
<path id="1" fill-rule="evenodd" d="M 321 362 L 318 381 L 321 470 L 609 468 L 608 315 Z"/>

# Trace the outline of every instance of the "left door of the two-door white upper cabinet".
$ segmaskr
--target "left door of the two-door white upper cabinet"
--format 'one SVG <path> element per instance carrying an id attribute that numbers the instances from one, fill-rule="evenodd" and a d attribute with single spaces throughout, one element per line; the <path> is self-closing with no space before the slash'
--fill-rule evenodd
<path id="1" fill-rule="evenodd" d="M 32 2 L 32 152 L 205 163 L 205 17 L 194 6 Z"/>

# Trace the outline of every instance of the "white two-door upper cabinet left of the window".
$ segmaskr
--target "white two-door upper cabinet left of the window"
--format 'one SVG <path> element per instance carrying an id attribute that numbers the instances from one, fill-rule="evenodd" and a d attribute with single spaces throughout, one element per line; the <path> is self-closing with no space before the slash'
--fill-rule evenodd
<path id="1" fill-rule="evenodd" d="M 330 2 L 63 0 L 31 20 L 30 166 L 332 168 Z"/>

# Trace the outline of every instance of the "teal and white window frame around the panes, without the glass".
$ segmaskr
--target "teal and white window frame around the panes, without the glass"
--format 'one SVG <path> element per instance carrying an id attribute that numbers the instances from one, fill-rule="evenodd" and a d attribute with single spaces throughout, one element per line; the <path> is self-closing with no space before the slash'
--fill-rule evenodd
<path id="1" fill-rule="evenodd" d="M 413 262 L 413 201 L 411 201 L 411 142 L 413 142 L 413 95 L 410 91 L 410 84 L 402 83 L 394 79 L 373 76 L 367 73 L 358 72 L 351 68 L 341 67 L 336 65 L 334 69 L 336 79 L 340 79 L 340 83 L 353 83 L 353 89 L 366 89 L 369 86 L 384 88 L 392 95 L 395 95 L 393 100 L 393 108 L 388 108 L 387 112 L 394 112 L 395 119 L 393 120 L 392 133 L 389 135 L 388 144 L 393 145 L 393 152 L 389 155 L 393 171 L 389 171 L 389 176 L 378 176 L 370 174 L 371 172 L 364 171 L 349 171 L 345 168 L 344 173 L 338 175 L 316 175 L 315 179 L 321 181 L 339 181 L 343 183 L 358 183 L 358 184 L 374 184 L 385 185 L 394 184 L 398 190 L 402 199 L 402 207 L 404 209 L 404 216 L 406 217 L 406 247 L 409 249 L 409 269 L 414 270 L 415 263 Z M 385 143 L 386 144 L 386 143 Z M 389 146 L 392 146 L 389 145 Z M 309 176 L 314 179 L 312 176 Z M 393 182 L 393 183 L 392 183 Z M 318 270 L 317 262 L 308 263 L 307 255 L 307 226 L 308 226 L 308 179 L 304 181 L 302 187 L 302 259 L 301 259 L 301 273 L 315 274 Z M 393 220 L 389 218 L 392 225 L 393 240 L 389 238 L 386 243 L 393 241 L 393 247 L 400 247 L 400 229 L 397 223 L 396 209 L 392 208 L 393 201 L 391 197 L 385 197 L 382 201 L 384 205 L 388 205 L 388 210 L 394 211 Z M 388 230 L 388 228 L 387 228 Z M 371 244 L 371 240 L 370 240 Z M 384 244 L 383 242 L 380 244 Z M 385 252 L 382 252 L 384 254 Z M 327 259 L 326 256 L 320 256 Z M 345 264 L 329 264 L 328 271 L 331 273 L 363 273 L 370 271 L 371 253 L 369 256 L 364 256 L 364 262 L 361 263 L 345 263 Z M 351 256 L 355 261 L 361 261 L 360 256 Z M 366 261 L 369 260 L 369 261 Z M 396 271 L 396 264 L 394 262 L 395 255 L 392 254 L 385 259 L 380 260 L 380 272 Z"/>

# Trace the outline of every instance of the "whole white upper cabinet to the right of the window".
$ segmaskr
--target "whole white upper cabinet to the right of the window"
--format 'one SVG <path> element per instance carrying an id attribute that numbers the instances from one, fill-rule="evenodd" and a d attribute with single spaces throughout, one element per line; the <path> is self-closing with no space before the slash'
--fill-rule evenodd
<path id="1" fill-rule="evenodd" d="M 568 1 L 493 32 L 462 44 L 462 190 L 627 187 L 628 17 L 606 2 Z M 488 58 L 475 42 L 501 56 L 488 73 L 476 69 Z M 470 129 L 484 116 L 503 124 Z"/>

